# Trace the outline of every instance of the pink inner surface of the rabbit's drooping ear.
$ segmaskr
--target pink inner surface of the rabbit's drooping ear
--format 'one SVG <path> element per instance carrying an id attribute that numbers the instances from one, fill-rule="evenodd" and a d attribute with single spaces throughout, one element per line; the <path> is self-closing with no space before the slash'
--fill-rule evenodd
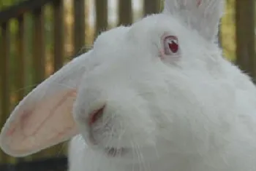
<path id="1" fill-rule="evenodd" d="M 72 117 L 75 98 L 75 90 L 54 93 L 35 101 L 36 104 L 31 105 L 33 108 L 29 106 L 28 110 L 15 111 L 15 120 L 7 126 L 4 134 L 7 149 L 14 154 L 32 153 L 78 134 Z"/>

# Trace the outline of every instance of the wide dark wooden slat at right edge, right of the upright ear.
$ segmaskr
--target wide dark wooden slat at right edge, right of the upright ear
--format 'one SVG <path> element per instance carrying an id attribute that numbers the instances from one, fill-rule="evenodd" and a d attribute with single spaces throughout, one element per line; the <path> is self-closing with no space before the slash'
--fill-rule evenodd
<path id="1" fill-rule="evenodd" d="M 236 63 L 255 77 L 255 0 L 236 0 Z"/>

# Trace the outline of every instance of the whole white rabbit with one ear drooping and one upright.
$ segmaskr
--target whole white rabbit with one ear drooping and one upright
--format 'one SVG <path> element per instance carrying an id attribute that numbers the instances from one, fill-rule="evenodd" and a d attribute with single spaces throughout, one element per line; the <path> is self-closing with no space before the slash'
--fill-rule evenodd
<path id="1" fill-rule="evenodd" d="M 224 0 L 102 33 L 10 115 L 1 148 L 71 140 L 69 171 L 255 171 L 256 88 L 215 43 Z"/>

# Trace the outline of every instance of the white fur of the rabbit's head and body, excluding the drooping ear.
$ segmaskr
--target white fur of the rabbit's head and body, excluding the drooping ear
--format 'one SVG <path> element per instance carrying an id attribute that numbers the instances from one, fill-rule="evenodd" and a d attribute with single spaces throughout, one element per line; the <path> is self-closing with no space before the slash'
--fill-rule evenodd
<path id="1" fill-rule="evenodd" d="M 223 2 L 202 7 L 213 1 Z M 222 57 L 212 41 L 217 28 L 184 24 L 205 19 L 189 5 L 190 16 L 173 17 L 178 13 L 166 8 L 97 38 L 73 106 L 80 134 L 70 142 L 69 171 L 256 170 L 255 85 Z M 209 12 L 219 18 L 221 8 Z M 166 33 L 178 37 L 176 59 L 159 56 Z M 89 114 L 103 105 L 102 118 L 89 127 Z M 111 157 L 110 147 L 128 151 Z"/>

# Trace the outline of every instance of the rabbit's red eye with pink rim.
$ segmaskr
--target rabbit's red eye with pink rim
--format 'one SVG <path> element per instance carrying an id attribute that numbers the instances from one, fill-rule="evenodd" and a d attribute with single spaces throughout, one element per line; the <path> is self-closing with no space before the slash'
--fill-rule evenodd
<path id="1" fill-rule="evenodd" d="M 163 39 L 165 55 L 176 55 L 179 50 L 176 36 L 165 36 Z"/>

